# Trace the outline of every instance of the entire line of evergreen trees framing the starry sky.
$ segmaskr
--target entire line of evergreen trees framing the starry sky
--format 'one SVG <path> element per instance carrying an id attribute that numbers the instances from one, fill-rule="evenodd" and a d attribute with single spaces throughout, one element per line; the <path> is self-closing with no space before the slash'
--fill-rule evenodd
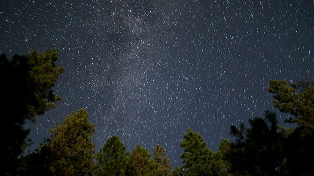
<path id="1" fill-rule="evenodd" d="M 284 80 L 269 80 L 273 106 L 289 115 L 278 124 L 275 112 L 265 110 L 238 127 L 231 125 L 233 140 L 222 139 L 212 152 L 204 138 L 188 128 L 181 141 L 181 167 L 173 167 L 163 146 L 150 154 L 141 145 L 131 152 L 118 136 L 110 137 L 95 152 L 92 142 L 95 124 L 88 112 L 80 109 L 62 124 L 50 129 L 46 138 L 31 153 L 25 129 L 27 120 L 55 108 L 61 97 L 53 86 L 64 68 L 56 66 L 55 49 L 44 53 L 0 56 L 1 92 L 1 170 L 3 176 L 312 176 L 314 175 L 314 82 L 288 85 Z"/>

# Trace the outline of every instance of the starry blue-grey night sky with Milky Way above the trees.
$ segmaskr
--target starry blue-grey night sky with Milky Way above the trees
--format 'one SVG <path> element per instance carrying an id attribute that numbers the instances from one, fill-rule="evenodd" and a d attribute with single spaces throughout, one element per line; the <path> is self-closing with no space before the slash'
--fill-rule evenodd
<path id="1" fill-rule="evenodd" d="M 31 149 L 85 108 L 95 151 L 118 135 L 181 165 L 186 128 L 215 152 L 275 110 L 269 79 L 314 81 L 314 0 L 0 0 L 0 37 L 0 54 L 56 48 L 66 68 L 63 100 L 26 125 Z"/>

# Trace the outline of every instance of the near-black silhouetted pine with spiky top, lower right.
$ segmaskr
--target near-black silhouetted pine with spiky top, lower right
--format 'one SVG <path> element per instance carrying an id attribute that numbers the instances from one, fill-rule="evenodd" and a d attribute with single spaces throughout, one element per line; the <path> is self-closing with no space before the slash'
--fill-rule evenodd
<path id="1" fill-rule="evenodd" d="M 283 175 L 285 160 L 283 133 L 278 126 L 274 112 L 265 111 L 265 120 L 261 117 L 249 119 L 250 128 L 240 124 L 231 126 L 231 135 L 235 142 L 226 153 L 234 175 L 278 176 Z"/>

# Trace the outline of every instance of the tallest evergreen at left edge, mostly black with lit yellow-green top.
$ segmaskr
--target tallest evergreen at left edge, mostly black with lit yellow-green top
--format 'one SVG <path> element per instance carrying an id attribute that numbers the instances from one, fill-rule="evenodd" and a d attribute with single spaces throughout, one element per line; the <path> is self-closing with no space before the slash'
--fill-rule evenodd
<path id="1" fill-rule="evenodd" d="M 37 115 L 55 107 L 61 100 L 52 87 L 64 68 L 56 66 L 55 49 L 29 55 L 14 55 L 12 59 L 0 56 L 0 125 L 1 163 L 0 175 L 15 175 L 17 156 L 24 151 L 29 130 L 26 120 L 35 121 Z"/>

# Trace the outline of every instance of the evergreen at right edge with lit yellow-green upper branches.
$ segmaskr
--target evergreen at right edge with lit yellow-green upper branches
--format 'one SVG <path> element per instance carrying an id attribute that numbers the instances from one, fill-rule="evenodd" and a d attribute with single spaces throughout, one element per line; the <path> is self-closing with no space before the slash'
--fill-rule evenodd
<path id="1" fill-rule="evenodd" d="M 314 173 L 314 82 L 288 86 L 286 81 L 270 80 L 267 88 L 274 94 L 274 107 L 292 115 L 286 122 L 297 125 L 290 129 L 286 143 L 288 174 L 307 176 Z"/>

